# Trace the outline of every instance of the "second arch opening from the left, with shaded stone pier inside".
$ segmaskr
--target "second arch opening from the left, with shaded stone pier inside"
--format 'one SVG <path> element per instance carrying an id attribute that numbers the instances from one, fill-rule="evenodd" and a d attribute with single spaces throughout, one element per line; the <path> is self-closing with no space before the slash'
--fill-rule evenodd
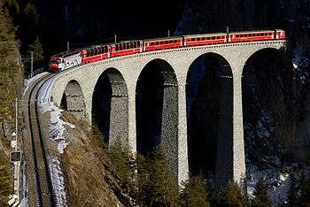
<path id="1" fill-rule="evenodd" d="M 119 70 L 106 69 L 99 76 L 92 97 L 92 123 L 109 146 L 128 144 L 128 88 Z"/>

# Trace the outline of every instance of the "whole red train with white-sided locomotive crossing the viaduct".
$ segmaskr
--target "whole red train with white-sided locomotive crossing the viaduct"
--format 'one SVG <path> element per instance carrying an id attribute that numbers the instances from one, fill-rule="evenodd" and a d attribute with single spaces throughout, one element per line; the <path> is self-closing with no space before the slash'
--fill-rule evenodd
<path id="1" fill-rule="evenodd" d="M 88 48 L 77 49 L 54 55 L 50 58 L 49 66 L 50 71 L 59 72 L 76 65 L 82 65 L 105 58 L 127 56 L 152 50 L 167 50 L 229 42 L 252 42 L 283 39 L 285 39 L 285 32 L 281 29 L 275 29 L 204 35 L 183 35 L 159 39 L 116 42 L 104 45 L 93 45 Z"/>

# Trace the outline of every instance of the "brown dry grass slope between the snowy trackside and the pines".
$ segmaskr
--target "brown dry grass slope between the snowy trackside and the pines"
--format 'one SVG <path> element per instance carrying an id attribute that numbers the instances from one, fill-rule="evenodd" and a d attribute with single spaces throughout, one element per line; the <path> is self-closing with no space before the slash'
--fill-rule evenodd
<path id="1" fill-rule="evenodd" d="M 117 206 L 120 201 L 114 192 L 120 180 L 112 172 L 105 150 L 85 132 L 89 128 L 85 123 L 66 112 L 63 119 L 76 126 L 65 134 L 70 143 L 62 155 L 72 205 Z"/>

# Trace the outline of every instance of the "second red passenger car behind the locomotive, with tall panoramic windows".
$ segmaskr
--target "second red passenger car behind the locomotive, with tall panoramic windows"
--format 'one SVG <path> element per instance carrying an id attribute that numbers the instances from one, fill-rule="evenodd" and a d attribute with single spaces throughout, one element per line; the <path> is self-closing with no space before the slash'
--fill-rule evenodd
<path id="1" fill-rule="evenodd" d="M 126 56 L 142 52 L 142 41 L 128 41 L 111 44 L 111 57 Z"/>

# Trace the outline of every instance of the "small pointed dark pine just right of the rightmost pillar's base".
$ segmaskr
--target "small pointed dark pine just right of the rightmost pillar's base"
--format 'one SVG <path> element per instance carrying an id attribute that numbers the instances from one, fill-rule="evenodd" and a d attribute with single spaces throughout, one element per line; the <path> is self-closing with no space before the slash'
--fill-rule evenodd
<path id="1" fill-rule="evenodd" d="M 255 198 L 253 199 L 252 206 L 271 206 L 265 180 L 260 179 L 257 181 L 254 196 Z"/>

